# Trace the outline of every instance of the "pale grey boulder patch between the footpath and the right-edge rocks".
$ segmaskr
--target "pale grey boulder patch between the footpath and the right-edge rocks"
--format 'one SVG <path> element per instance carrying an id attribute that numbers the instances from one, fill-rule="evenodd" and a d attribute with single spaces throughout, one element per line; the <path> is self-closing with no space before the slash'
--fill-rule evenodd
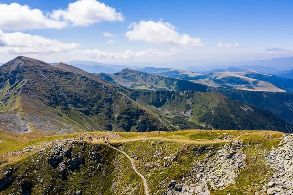
<path id="1" fill-rule="evenodd" d="M 206 153 L 205 161 L 197 162 L 182 181 L 173 180 L 168 184 L 162 181 L 168 189 L 167 195 L 210 195 L 209 186 L 221 190 L 233 184 L 239 169 L 245 165 L 245 153 L 242 152 L 245 147 L 248 145 L 241 141 L 227 143 L 217 152 L 213 146 L 194 147 L 194 151 Z"/>

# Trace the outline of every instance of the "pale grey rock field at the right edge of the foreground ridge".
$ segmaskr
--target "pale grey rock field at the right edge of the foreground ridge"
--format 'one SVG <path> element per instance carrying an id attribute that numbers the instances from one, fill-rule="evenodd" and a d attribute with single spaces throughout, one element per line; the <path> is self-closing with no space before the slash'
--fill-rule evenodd
<path id="1" fill-rule="evenodd" d="M 265 156 L 267 164 L 273 169 L 272 178 L 264 191 L 268 195 L 293 194 L 293 135 L 283 136 L 278 148 L 272 147 Z"/>

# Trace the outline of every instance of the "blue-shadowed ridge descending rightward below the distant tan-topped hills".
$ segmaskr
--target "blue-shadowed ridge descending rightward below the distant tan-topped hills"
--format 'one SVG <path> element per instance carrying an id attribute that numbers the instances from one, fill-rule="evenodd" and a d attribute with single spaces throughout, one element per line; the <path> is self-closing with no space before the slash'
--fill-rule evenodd
<path id="1" fill-rule="evenodd" d="M 102 76 L 103 75 L 103 76 Z M 141 76 L 143 75 L 143 76 Z M 171 77 L 164 77 L 160 75 L 154 75 L 149 73 L 142 73 L 134 70 L 123 70 L 114 75 L 100 74 L 101 78 L 112 82 L 119 83 L 123 86 L 128 86 L 133 89 L 153 89 L 153 90 L 166 90 L 165 83 L 175 84 L 169 87 L 168 90 L 174 91 L 210 91 L 218 92 L 227 96 L 231 100 L 245 102 L 248 104 L 256 105 L 259 108 L 265 109 L 278 115 L 282 119 L 293 123 L 293 93 L 272 93 L 272 92 L 258 92 L 258 91 L 246 91 L 227 89 L 223 87 L 208 87 L 203 85 L 197 85 L 188 80 L 175 79 Z M 164 85 L 159 85 L 156 80 L 164 81 Z M 200 86 L 200 87 L 199 87 Z M 204 87 L 204 88 L 201 88 Z M 202 89 L 202 90 L 201 90 Z"/>

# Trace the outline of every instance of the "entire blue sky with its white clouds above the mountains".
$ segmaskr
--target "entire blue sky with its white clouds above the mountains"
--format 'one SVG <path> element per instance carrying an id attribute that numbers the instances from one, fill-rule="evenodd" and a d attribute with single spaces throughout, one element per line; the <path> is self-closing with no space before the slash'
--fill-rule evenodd
<path id="1" fill-rule="evenodd" d="M 292 10 L 290 0 L 1 0 L 0 62 L 25 55 L 203 65 L 292 56 Z"/>

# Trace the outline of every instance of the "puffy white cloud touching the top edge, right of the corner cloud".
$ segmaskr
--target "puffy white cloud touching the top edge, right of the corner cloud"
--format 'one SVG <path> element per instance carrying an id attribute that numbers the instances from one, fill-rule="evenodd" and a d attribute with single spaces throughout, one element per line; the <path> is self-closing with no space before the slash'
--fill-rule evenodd
<path id="1" fill-rule="evenodd" d="M 69 3 L 66 10 L 54 10 L 51 18 L 72 22 L 73 26 L 89 26 L 102 21 L 123 21 L 122 13 L 96 0 L 78 0 Z"/>

